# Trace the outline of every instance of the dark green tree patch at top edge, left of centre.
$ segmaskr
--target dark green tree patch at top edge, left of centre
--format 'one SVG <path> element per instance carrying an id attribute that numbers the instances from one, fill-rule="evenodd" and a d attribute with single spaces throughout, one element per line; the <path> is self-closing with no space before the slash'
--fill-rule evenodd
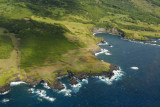
<path id="1" fill-rule="evenodd" d="M 43 17 L 59 17 L 64 9 L 64 14 L 77 14 L 82 10 L 82 6 L 78 0 L 5 0 L 7 3 L 15 5 L 25 4 L 27 8 L 33 11 L 36 15 Z M 20 4 L 21 3 L 21 4 Z M 22 6 L 22 5 L 21 5 Z M 54 12 L 55 11 L 55 12 Z M 56 14 L 56 15 L 55 15 Z"/>

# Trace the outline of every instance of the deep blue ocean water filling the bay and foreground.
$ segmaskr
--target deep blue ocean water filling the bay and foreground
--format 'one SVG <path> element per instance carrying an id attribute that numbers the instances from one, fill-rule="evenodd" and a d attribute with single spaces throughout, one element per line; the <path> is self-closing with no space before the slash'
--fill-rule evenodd
<path id="1" fill-rule="evenodd" d="M 65 92 L 46 89 L 42 84 L 34 88 L 45 90 L 46 96 L 56 99 L 54 102 L 29 93 L 32 87 L 21 84 L 13 86 L 8 94 L 0 95 L 0 107 L 160 107 L 160 46 L 134 43 L 111 34 L 96 36 L 113 46 L 101 45 L 112 55 L 102 53 L 97 57 L 121 67 L 124 75 L 118 81 L 108 85 L 97 78 L 89 78 L 88 83 L 81 83 L 81 88 L 73 89 L 65 78 L 61 80 L 68 89 Z M 4 99 L 9 102 L 2 102 Z"/>

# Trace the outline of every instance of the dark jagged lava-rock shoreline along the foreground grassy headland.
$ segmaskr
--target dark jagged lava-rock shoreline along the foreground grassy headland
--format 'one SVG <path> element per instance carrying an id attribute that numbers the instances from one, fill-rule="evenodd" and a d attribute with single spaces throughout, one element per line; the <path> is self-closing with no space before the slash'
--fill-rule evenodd
<path id="1" fill-rule="evenodd" d="M 78 81 L 82 81 L 83 79 L 86 79 L 88 77 L 105 76 L 105 77 L 111 78 L 114 75 L 113 70 L 119 70 L 119 67 L 115 66 L 115 65 L 111 65 L 109 71 L 103 71 L 101 73 L 92 73 L 92 71 L 90 71 L 90 73 L 86 73 L 86 72 L 82 71 L 82 72 L 74 74 L 72 71 L 68 70 L 67 75 L 57 75 L 57 78 L 69 77 L 70 85 L 76 85 L 76 84 L 78 84 Z M 34 79 L 34 80 L 32 80 L 32 82 L 29 82 L 27 80 L 20 80 L 19 78 L 16 78 L 12 82 L 19 82 L 19 81 L 25 82 L 27 85 L 31 85 L 31 86 L 36 86 L 36 85 L 40 84 L 41 82 L 44 82 L 44 83 L 47 83 L 51 89 L 54 89 L 57 91 L 61 91 L 61 90 L 65 89 L 65 86 L 61 82 L 59 82 L 58 80 L 56 82 L 53 82 L 52 84 L 50 84 L 47 80 L 43 80 L 43 79 L 42 80 Z M 6 84 L 5 86 L 0 87 L 1 94 L 5 93 L 7 91 L 10 91 L 10 90 L 11 90 L 10 84 Z"/>

